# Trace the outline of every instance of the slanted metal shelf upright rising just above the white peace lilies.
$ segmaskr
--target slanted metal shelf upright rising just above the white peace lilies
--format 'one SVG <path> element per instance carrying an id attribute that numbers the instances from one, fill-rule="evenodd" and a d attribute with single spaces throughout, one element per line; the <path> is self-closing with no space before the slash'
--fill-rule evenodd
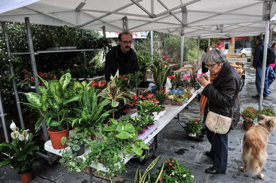
<path id="1" fill-rule="evenodd" d="M 2 27 L 3 27 L 4 36 L 5 36 L 5 39 L 6 39 L 6 49 L 7 49 L 6 51 L 7 51 L 8 55 L 10 56 L 10 43 L 9 43 L 6 24 L 3 23 Z M 13 61 L 9 60 L 9 62 L 10 62 L 10 74 L 14 75 Z M 18 95 L 18 92 L 17 92 L 17 83 L 16 83 L 16 80 L 15 80 L 15 77 L 13 77 L 12 83 L 13 83 L 13 91 L 14 91 L 14 95 L 15 95 L 15 101 L 16 101 L 17 112 L 18 112 L 18 115 L 19 115 L 21 128 L 25 129 L 25 125 L 24 125 L 24 121 L 23 121 L 23 115 L 22 115 L 22 111 L 21 111 L 21 106 L 20 106 L 20 103 L 19 103 L 19 95 Z"/>

